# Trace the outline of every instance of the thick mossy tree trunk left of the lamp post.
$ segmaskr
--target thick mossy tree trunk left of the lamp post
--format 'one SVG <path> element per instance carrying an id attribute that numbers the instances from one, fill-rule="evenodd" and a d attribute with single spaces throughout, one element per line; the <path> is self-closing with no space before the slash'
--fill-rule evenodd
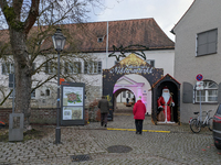
<path id="1" fill-rule="evenodd" d="M 24 113 L 24 128 L 29 125 L 31 113 L 31 70 L 27 52 L 27 36 L 23 31 L 10 29 L 10 42 L 13 51 L 15 73 L 15 112 Z"/>

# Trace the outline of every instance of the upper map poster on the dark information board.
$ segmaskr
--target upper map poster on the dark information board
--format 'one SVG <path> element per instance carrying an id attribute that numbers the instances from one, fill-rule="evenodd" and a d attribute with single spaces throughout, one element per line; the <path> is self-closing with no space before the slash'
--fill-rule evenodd
<path id="1" fill-rule="evenodd" d="M 63 106 L 83 106 L 83 87 L 64 87 Z"/>

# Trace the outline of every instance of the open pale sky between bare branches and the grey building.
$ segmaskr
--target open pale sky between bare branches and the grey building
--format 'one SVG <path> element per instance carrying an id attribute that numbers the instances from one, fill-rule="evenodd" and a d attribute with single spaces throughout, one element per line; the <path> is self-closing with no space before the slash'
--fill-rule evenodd
<path id="1" fill-rule="evenodd" d="M 162 31 L 170 33 L 194 0 L 105 0 L 105 10 L 95 9 L 87 22 L 154 18 Z"/>

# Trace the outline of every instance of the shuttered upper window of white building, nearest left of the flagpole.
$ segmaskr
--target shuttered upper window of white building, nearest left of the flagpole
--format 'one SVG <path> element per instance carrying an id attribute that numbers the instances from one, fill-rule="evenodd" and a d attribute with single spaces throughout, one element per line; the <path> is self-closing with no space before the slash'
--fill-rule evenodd
<path id="1" fill-rule="evenodd" d="M 102 74 L 102 62 L 85 62 L 84 74 Z"/>

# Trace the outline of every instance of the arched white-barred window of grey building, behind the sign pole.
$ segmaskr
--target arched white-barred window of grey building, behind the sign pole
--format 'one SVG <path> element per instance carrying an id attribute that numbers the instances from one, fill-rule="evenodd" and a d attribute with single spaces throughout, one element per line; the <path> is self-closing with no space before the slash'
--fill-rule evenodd
<path id="1" fill-rule="evenodd" d="M 203 81 L 203 90 L 201 90 L 201 102 L 218 101 L 218 85 L 211 80 Z M 196 90 L 196 102 L 200 102 L 200 90 Z"/>

